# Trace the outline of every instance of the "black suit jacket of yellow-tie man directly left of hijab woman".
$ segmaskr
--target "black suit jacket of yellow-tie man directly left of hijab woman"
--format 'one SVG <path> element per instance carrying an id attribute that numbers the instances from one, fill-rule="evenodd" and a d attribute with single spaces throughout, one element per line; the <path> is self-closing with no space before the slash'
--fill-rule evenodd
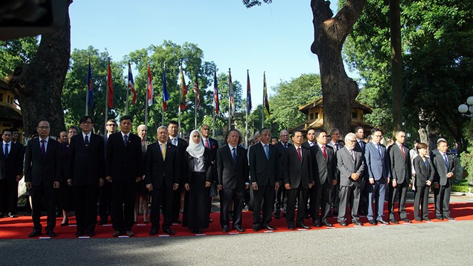
<path id="1" fill-rule="evenodd" d="M 159 142 L 148 146 L 146 155 L 146 181 L 152 183 L 153 189 L 160 189 L 163 186 L 172 190 L 174 183 L 181 183 L 179 175 L 179 151 L 170 142 L 166 143 L 166 159 L 163 159 Z"/>

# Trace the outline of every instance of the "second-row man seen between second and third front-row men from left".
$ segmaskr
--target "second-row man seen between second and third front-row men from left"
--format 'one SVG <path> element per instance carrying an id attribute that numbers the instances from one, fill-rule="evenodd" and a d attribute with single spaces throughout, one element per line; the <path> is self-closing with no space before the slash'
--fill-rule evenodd
<path id="1" fill-rule="evenodd" d="M 117 121 L 115 119 L 108 119 L 105 123 L 107 133 L 103 135 L 104 156 L 107 156 L 108 137 L 117 132 Z M 105 158 L 106 159 L 106 158 Z M 112 183 L 105 182 L 99 188 L 99 225 L 105 225 L 108 222 L 108 216 L 112 214 Z"/>

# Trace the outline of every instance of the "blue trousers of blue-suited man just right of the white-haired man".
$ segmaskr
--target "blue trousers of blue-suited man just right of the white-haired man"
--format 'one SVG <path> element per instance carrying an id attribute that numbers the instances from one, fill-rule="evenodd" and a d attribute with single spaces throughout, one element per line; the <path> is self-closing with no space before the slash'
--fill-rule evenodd
<path id="1" fill-rule="evenodd" d="M 375 180 L 373 185 L 366 181 L 366 192 L 368 193 L 368 220 L 382 220 L 384 211 L 384 198 L 386 193 L 386 179 Z M 375 210 L 373 213 L 373 199 L 375 201 Z M 375 215 L 376 213 L 376 215 Z"/>

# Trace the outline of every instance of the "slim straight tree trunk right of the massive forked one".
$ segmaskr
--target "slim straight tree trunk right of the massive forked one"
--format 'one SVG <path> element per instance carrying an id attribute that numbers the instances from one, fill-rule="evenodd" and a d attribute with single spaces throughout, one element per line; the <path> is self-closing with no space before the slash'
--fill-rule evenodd
<path id="1" fill-rule="evenodd" d="M 394 131 L 400 130 L 403 122 L 403 58 L 400 44 L 399 2 L 400 0 L 389 1 Z"/>

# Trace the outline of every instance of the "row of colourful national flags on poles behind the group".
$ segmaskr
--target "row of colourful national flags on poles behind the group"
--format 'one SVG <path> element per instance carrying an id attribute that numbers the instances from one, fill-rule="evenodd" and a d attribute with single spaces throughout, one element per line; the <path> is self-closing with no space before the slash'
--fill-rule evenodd
<path id="1" fill-rule="evenodd" d="M 250 73 L 247 71 L 247 101 L 246 101 L 246 119 L 245 119 L 245 143 L 248 144 L 248 115 L 252 108 L 251 104 L 251 88 L 250 88 Z M 181 128 L 181 110 L 186 110 L 186 95 L 187 95 L 187 86 L 184 80 L 184 72 L 182 70 L 182 65 L 180 65 L 180 92 L 179 92 L 179 128 Z M 193 91 L 196 93 L 195 97 L 195 108 L 194 108 L 194 127 L 197 128 L 197 111 L 201 109 L 201 100 L 200 93 L 198 90 L 198 75 L 196 75 L 196 81 L 194 83 Z M 229 91 L 228 91 L 228 130 L 231 129 L 231 119 L 235 115 L 235 96 L 233 92 L 233 82 L 231 70 L 228 68 L 228 80 L 229 80 Z M 129 90 L 132 90 L 132 105 L 135 105 L 137 100 L 137 92 L 134 87 L 134 80 L 132 74 L 132 66 L 128 62 L 128 82 L 127 82 L 127 103 L 126 103 L 126 115 L 129 114 Z M 93 107 L 93 86 L 92 86 L 92 68 L 90 67 L 90 58 L 87 71 L 87 87 L 86 87 L 86 96 L 85 96 L 85 115 L 88 115 L 88 108 Z M 154 87 L 153 87 L 153 78 L 151 73 L 151 68 L 147 68 L 147 93 L 146 100 L 144 105 L 144 124 L 147 124 L 148 121 L 148 106 L 153 104 L 154 96 Z M 107 122 L 108 107 L 113 108 L 113 85 L 112 85 L 112 71 L 110 69 L 110 59 L 108 60 L 108 69 L 107 69 L 107 91 L 105 99 L 105 122 Z M 161 112 L 161 124 L 164 124 L 164 112 L 166 111 L 166 102 L 169 100 L 169 93 L 167 92 L 166 86 L 166 62 L 163 65 L 163 90 L 162 90 L 162 112 Z M 270 117 L 270 105 L 267 98 L 267 87 L 266 87 L 266 73 L 263 73 L 263 112 L 261 117 L 262 127 L 265 125 L 265 116 Z M 218 82 L 217 82 L 217 70 L 214 70 L 213 75 L 213 126 L 212 126 L 212 137 L 215 136 L 215 119 L 220 111 L 218 103 Z"/>

